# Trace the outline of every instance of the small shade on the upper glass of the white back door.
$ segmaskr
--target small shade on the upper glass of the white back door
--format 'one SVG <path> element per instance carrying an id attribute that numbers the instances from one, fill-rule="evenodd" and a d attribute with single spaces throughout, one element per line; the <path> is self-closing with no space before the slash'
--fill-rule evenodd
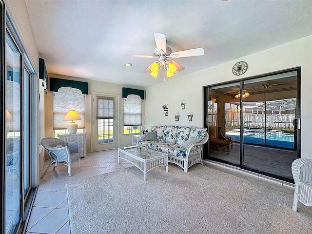
<path id="1" fill-rule="evenodd" d="M 115 118 L 114 98 L 97 96 L 97 118 L 111 119 Z"/>

